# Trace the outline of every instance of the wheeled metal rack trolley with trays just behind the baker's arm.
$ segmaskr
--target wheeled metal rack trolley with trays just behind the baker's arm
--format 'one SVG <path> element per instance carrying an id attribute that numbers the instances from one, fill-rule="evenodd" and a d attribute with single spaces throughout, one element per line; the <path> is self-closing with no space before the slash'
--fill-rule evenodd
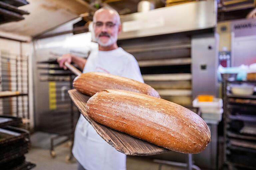
<path id="1" fill-rule="evenodd" d="M 67 84 L 69 84 L 69 88 L 65 89 L 65 93 L 66 90 L 72 89 L 73 88 L 73 79 L 74 79 L 74 74 L 72 72 L 70 72 L 69 70 L 63 70 L 63 68 L 60 68 L 58 66 L 58 63 L 56 61 L 56 59 L 49 59 L 47 61 L 40 61 L 37 62 L 38 64 L 47 64 L 46 66 L 38 66 L 37 68 L 40 70 L 47 70 L 47 73 L 40 73 L 40 81 L 46 81 L 46 82 L 56 82 L 56 103 L 57 103 L 57 107 L 55 110 L 50 110 L 49 112 L 56 114 L 62 114 L 63 112 L 66 112 L 69 116 L 68 116 L 68 122 L 70 124 L 70 126 L 66 126 L 66 123 L 63 122 L 62 119 L 58 118 L 56 119 L 54 122 L 55 124 L 57 124 L 57 128 L 60 129 L 59 131 L 54 131 L 54 133 L 58 133 L 57 136 L 51 137 L 50 139 L 50 155 L 54 158 L 56 156 L 56 153 L 54 151 L 54 147 L 56 146 L 54 143 L 55 140 L 63 137 L 63 136 L 68 136 L 68 139 L 64 139 L 62 142 L 65 142 L 67 140 L 70 140 L 68 142 L 69 146 L 70 146 L 70 153 L 69 155 L 66 156 L 66 161 L 70 161 L 73 158 L 72 155 L 72 147 L 73 147 L 73 140 L 74 140 L 74 130 L 75 130 L 75 123 L 77 121 L 77 117 L 78 117 L 78 111 L 75 108 L 73 102 L 70 100 L 69 97 L 67 97 L 67 101 L 65 102 L 65 106 L 68 106 L 68 108 L 70 109 L 66 109 L 66 110 L 61 110 L 59 109 L 59 106 L 61 105 L 60 103 L 62 103 L 62 101 L 60 100 L 60 94 L 59 94 L 59 90 L 60 87 L 57 85 L 58 82 L 66 82 Z M 45 78 L 45 76 L 47 78 Z M 63 90 L 63 89 L 62 89 Z M 67 95 L 65 95 L 66 97 Z M 66 98 L 65 98 L 66 100 Z M 59 104 L 58 104 L 59 103 Z M 77 113 L 77 114 L 75 114 Z M 52 132 L 52 131 L 51 131 Z M 61 142 L 61 143 L 62 143 Z M 59 143 L 58 143 L 59 144 Z"/>

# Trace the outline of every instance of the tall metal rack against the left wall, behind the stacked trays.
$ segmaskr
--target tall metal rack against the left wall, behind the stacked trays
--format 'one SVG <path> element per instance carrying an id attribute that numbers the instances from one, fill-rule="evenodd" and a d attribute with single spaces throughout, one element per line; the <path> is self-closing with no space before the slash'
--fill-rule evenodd
<path id="1" fill-rule="evenodd" d="M 24 128 L 30 129 L 28 56 L 10 53 L 0 54 L 0 91 L 18 91 L 1 95 L 0 115 L 21 117 Z"/>

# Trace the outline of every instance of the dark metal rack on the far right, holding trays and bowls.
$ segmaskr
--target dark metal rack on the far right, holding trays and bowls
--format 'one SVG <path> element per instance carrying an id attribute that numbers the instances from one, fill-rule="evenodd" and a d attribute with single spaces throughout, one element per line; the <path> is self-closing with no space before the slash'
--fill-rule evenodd
<path id="1" fill-rule="evenodd" d="M 223 82 L 224 162 L 228 169 L 256 169 L 256 127 L 243 130 L 256 123 L 256 95 L 238 96 L 230 93 L 230 84 L 256 81 Z"/>

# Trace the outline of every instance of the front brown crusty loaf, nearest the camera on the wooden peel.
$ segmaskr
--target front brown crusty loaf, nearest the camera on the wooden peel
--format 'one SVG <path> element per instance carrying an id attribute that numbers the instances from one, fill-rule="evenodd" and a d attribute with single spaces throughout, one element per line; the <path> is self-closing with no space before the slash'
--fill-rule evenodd
<path id="1" fill-rule="evenodd" d="M 100 124 L 177 152 L 199 153 L 211 140 L 197 114 L 144 94 L 103 90 L 87 101 L 86 112 Z"/>

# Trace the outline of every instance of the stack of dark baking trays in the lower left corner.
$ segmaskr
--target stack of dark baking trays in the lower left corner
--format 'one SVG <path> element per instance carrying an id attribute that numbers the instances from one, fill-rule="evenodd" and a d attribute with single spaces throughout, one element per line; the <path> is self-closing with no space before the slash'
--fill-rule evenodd
<path id="1" fill-rule="evenodd" d="M 16 120 L 5 119 L 6 121 L 3 121 L 2 125 L 16 124 L 19 120 L 19 118 Z M 11 126 L 0 128 L 0 169 L 28 170 L 35 167 L 35 164 L 25 161 L 24 154 L 28 152 L 28 144 L 29 132 L 27 130 Z"/>

